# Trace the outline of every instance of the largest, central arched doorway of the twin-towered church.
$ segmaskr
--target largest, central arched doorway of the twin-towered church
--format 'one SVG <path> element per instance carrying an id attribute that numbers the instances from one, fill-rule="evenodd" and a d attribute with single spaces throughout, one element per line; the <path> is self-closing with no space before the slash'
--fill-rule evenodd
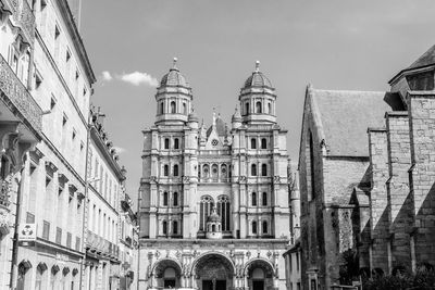
<path id="1" fill-rule="evenodd" d="M 233 263 L 221 254 L 199 257 L 194 264 L 194 274 L 199 290 L 226 290 L 233 287 Z"/>

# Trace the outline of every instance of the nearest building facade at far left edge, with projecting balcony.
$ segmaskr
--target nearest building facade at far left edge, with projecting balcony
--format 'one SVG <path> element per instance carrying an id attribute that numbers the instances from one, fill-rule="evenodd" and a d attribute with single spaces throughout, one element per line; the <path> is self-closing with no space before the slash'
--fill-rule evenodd
<path id="1" fill-rule="evenodd" d="M 42 139 L 41 104 L 32 93 L 36 41 L 35 16 L 27 1 L 0 1 L 1 290 L 10 289 L 17 275 L 12 261 L 16 260 L 20 184 L 28 151 Z"/>

